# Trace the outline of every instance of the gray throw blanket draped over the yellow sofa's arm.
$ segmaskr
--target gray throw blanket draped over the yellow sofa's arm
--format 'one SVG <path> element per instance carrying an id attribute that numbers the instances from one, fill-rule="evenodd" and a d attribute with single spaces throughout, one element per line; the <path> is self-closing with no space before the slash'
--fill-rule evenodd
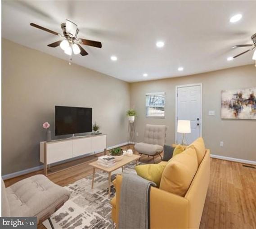
<path id="1" fill-rule="evenodd" d="M 120 206 L 119 229 L 149 228 L 149 192 L 155 183 L 136 174 L 123 175 Z"/>

